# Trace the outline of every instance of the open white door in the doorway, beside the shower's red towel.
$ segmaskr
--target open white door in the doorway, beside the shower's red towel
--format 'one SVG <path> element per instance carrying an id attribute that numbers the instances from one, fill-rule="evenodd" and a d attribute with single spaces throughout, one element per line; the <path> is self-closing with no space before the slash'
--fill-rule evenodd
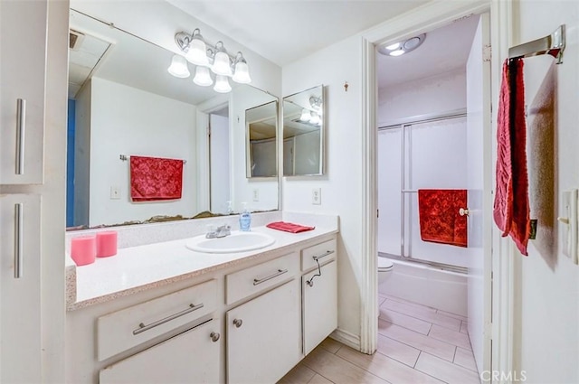
<path id="1" fill-rule="evenodd" d="M 489 15 L 482 14 L 467 62 L 469 337 L 479 373 L 490 369 L 491 356 L 490 58 L 484 53 L 488 45 Z"/>

